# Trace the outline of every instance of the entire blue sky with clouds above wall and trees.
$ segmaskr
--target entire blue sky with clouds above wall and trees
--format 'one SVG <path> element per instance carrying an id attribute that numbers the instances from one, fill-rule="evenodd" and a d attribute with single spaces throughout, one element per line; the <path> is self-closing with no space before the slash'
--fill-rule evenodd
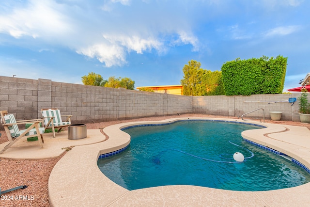
<path id="1" fill-rule="evenodd" d="M 79 83 L 89 72 L 176 85 L 190 60 L 288 57 L 310 72 L 309 0 L 1 0 L 0 75 Z"/>

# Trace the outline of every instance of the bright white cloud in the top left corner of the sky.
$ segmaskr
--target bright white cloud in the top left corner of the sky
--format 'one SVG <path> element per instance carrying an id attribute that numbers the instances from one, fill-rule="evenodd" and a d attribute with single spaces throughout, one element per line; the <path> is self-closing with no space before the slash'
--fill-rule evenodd
<path id="1" fill-rule="evenodd" d="M 47 37 L 68 32 L 70 25 L 61 7 L 52 1 L 31 0 L 26 8 L 20 6 L 10 14 L 0 16 L 0 32 L 15 38 L 23 36 Z"/>

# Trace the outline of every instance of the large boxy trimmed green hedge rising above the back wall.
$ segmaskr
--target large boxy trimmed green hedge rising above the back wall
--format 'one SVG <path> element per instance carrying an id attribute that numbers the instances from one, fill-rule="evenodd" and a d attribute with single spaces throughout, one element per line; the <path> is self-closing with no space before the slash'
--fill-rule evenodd
<path id="1" fill-rule="evenodd" d="M 287 58 L 239 58 L 222 65 L 222 80 L 226 96 L 281 94 L 284 87 Z"/>

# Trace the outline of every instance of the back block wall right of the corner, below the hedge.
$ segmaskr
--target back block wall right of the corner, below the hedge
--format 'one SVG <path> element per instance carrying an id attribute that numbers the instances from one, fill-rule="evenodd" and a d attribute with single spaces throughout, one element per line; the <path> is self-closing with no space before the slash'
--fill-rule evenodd
<path id="1" fill-rule="evenodd" d="M 273 102 L 288 101 L 289 98 L 298 98 L 299 96 L 299 93 L 251 96 L 194 96 L 193 112 L 241 117 L 245 113 L 262 108 L 266 119 L 270 119 L 270 111 L 281 111 L 281 120 L 298 122 L 300 121 L 298 100 L 293 106 L 289 102 Z M 244 116 L 244 119 L 263 118 L 263 110 L 249 113 Z"/>

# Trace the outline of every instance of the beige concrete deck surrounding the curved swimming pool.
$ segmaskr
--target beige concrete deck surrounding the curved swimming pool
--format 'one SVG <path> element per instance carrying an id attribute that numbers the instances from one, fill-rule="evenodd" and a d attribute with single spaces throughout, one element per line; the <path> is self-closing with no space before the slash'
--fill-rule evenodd
<path id="1" fill-rule="evenodd" d="M 76 143 L 71 144 L 78 146 L 67 152 L 57 162 L 50 174 L 48 194 L 51 206 L 306 207 L 310 205 L 310 183 L 274 191 L 227 191 L 188 185 L 161 186 L 128 191 L 109 180 L 99 170 L 97 166 L 99 155 L 122 149 L 130 143 L 130 136 L 121 131 L 120 128 L 137 124 L 171 123 L 184 119 L 244 122 L 239 119 L 221 118 L 172 118 L 154 122 L 127 122 L 104 128 L 104 132 L 109 136 L 107 140 L 99 129 L 87 130 L 87 138 L 77 140 L 79 145 Z M 242 132 L 242 136 L 245 139 L 285 153 L 310 169 L 310 130 L 307 127 L 259 123 L 255 121 L 247 121 L 246 123 L 263 125 L 266 128 Z M 48 136 L 49 134 L 44 136 L 45 140 L 55 139 L 48 139 Z M 65 137 L 66 133 L 63 132 L 62 136 Z M 63 139 L 63 142 L 66 142 L 65 139 Z M 74 141 L 70 140 L 69 143 L 74 143 Z M 69 143 L 63 143 L 62 147 L 69 146 Z M 13 155 L 19 154 L 14 153 L 16 150 L 13 148 L 14 146 L 1 154 L 0 157 L 8 156 L 12 158 Z M 41 156 L 47 156 L 47 153 L 42 153 L 43 150 L 44 152 L 55 151 L 51 145 L 50 147 L 47 147 L 46 144 L 44 146 L 45 148 L 41 149 L 38 143 L 33 145 L 33 147 L 41 150 L 41 153 L 36 153 L 35 157 L 37 159 L 41 159 Z M 16 148 L 18 147 L 20 148 L 21 146 L 16 146 Z M 25 156 L 27 156 L 27 153 L 22 158 L 25 159 Z"/>

